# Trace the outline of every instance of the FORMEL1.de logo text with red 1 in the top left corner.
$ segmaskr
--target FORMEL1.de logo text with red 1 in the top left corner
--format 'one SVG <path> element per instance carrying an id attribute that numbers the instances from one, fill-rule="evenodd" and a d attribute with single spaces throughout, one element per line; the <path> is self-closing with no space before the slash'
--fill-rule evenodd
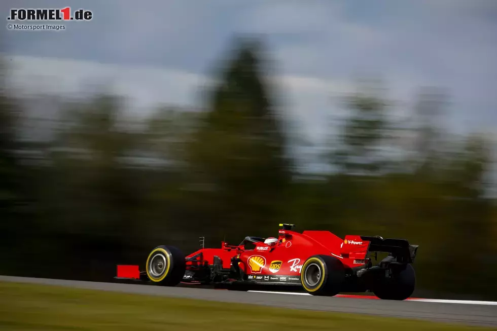
<path id="1" fill-rule="evenodd" d="M 8 21 L 89 21 L 92 18 L 93 13 L 84 9 L 79 9 L 74 12 L 74 15 L 71 15 L 70 7 L 63 9 L 13 8 L 10 10 L 10 15 L 7 16 Z"/>

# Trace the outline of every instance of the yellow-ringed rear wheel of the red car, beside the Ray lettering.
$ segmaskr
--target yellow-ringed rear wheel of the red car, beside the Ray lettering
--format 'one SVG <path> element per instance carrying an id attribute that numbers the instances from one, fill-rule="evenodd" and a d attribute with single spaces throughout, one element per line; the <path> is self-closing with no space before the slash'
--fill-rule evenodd
<path id="1" fill-rule="evenodd" d="M 313 296 L 336 296 L 345 279 L 345 268 L 337 258 L 314 255 L 302 266 L 300 281 L 307 293 Z"/>

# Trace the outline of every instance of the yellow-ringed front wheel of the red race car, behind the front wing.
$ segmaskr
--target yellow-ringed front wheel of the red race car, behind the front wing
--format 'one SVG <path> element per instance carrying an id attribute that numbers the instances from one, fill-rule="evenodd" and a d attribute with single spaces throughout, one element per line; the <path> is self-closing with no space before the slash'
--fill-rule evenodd
<path id="1" fill-rule="evenodd" d="M 155 247 L 147 258 L 147 277 L 157 285 L 175 286 L 185 275 L 183 252 L 174 246 Z"/>

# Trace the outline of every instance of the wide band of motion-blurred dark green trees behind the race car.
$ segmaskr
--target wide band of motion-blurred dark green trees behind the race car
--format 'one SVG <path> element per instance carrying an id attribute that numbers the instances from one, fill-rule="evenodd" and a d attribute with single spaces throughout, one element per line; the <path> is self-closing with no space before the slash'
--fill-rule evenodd
<path id="1" fill-rule="evenodd" d="M 48 140 L 21 138 L 22 96 L 2 67 L 0 273 L 107 281 L 160 244 L 238 244 L 286 222 L 406 238 L 420 245 L 415 295 L 497 299 L 491 141 L 444 132 L 445 92 L 420 89 L 406 125 L 379 82 L 360 82 L 330 130 L 332 171 L 305 173 L 264 51 L 237 40 L 201 110 L 137 121 L 102 93 L 68 103 Z"/>

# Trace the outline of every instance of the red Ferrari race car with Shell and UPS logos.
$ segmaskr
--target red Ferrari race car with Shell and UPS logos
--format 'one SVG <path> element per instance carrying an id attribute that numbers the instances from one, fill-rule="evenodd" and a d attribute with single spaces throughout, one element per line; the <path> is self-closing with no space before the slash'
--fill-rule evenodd
<path id="1" fill-rule="evenodd" d="M 187 256 L 176 247 L 158 246 L 144 271 L 118 265 L 115 278 L 166 286 L 294 285 L 316 296 L 372 291 L 387 300 L 405 300 L 414 291 L 412 263 L 418 246 L 407 240 L 358 235 L 341 239 L 329 231 L 298 233 L 292 231 L 294 225 L 280 227 L 277 238 L 245 237 L 237 246 L 223 241 L 221 248 L 202 247 Z M 378 252 L 388 256 L 373 266 Z"/>

